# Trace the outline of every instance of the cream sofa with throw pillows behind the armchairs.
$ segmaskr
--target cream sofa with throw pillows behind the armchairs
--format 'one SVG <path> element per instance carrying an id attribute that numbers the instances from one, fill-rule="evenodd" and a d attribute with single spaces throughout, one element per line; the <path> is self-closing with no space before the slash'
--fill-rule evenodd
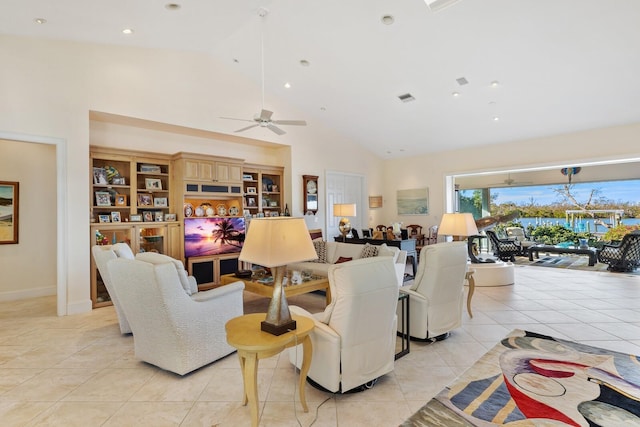
<path id="1" fill-rule="evenodd" d="M 404 283 L 404 271 L 407 262 L 407 251 L 382 245 L 364 245 L 343 243 L 343 242 L 327 242 L 324 240 L 314 240 L 313 246 L 318 254 L 318 259 L 314 261 L 298 262 L 289 264 L 289 270 L 310 271 L 316 276 L 327 277 L 329 267 L 334 264 L 349 262 L 361 258 L 369 258 L 376 256 L 389 256 L 393 259 L 393 266 L 396 273 L 398 287 Z"/>

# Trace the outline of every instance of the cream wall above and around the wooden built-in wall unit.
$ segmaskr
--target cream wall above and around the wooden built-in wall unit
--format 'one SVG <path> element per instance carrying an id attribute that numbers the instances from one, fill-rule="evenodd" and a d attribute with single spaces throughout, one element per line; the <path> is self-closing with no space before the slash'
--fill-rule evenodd
<path id="1" fill-rule="evenodd" d="M 69 247 L 67 277 L 61 280 L 67 291 L 67 307 L 63 312 L 90 310 L 89 144 L 93 137 L 96 142 L 105 141 L 106 137 L 100 135 L 105 130 L 100 125 L 92 124 L 90 133 L 89 112 L 232 133 L 237 123 L 224 123 L 217 117 L 251 117 L 257 105 L 239 103 L 236 94 L 246 90 L 258 94 L 259 88 L 233 69 L 200 53 L 0 36 L 0 62 L 3 64 L 0 132 L 40 135 L 66 142 L 68 231 L 59 236 Z M 267 107 L 282 117 L 301 117 L 285 102 L 271 101 Z M 320 194 L 324 192 L 325 170 L 361 173 L 377 187 L 376 191 L 381 191 L 382 161 L 366 149 L 312 122 L 307 127 L 291 127 L 287 131 L 278 137 L 269 130 L 256 129 L 250 136 L 290 147 L 290 163 L 284 166 L 291 184 L 287 197 L 291 200 L 292 214 L 302 214 L 303 174 L 321 177 Z M 131 141 L 108 141 L 109 144 L 150 151 L 187 151 L 184 141 L 169 150 L 169 142 L 158 135 L 157 140 L 143 141 L 136 130 L 119 132 L 127 138 L 131 136 Z M 191 151 L 216 154 L 216 149 L 206 141 L 191 140 L 185 145 L 194 149 Z M 244 154 L 246 151 L 242 157 L 248 157 Z M 320 212 L 324 211 L 324 203 L 320 200 Z M 324 224 L 322 216 L 319 223 Z M 54 230 L 52 227 L 47 238 L 55 239 Z"/>

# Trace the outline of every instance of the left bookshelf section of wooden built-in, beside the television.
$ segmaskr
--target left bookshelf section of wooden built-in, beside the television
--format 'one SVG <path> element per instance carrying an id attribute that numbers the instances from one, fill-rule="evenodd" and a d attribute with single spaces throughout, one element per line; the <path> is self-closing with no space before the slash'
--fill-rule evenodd
<path id="1" fill-rule="evenodd" d="M 170 156 L 90 149 L 91 246 L 125 242 L 134 253 L 153 251 L 180 258 L 181 222 L 171 198 Z M 111 304 L 91 257 L 94 307 Z"/>

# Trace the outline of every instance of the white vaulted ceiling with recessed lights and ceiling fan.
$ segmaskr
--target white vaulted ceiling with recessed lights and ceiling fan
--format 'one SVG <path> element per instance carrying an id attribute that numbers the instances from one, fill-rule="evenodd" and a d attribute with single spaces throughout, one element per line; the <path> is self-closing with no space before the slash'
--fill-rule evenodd
<path id="1" fill-rule="evenodd" d="M 0 33 L 200 51 L 254 82 L 264 35 L 265 107 L 277 97 L 300 115 L 274 118 L 322 123 L 383 158 L 640 122 L 639 22 L 638 0 L 460 0 L 439 11 L 423 0 L 0 6 Z M 259 110 L 256 87 L 238 91 L 244 117 Z M 212 111 L 211 129 L 241 127 L 225 115 Z"/>

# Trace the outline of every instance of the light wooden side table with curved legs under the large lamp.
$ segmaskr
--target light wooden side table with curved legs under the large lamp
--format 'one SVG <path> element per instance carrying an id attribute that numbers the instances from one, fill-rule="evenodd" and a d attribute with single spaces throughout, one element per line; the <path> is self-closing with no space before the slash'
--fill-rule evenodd
<path id="1" fill-rule="evenodd" d="M 296 321 L 297 328 L 279 336 L 271 335 L 260 330 L 266 313 L 253 313 L 235 317 L 227 322 L 227 342 L 238 349 L 242 380 L 244 382 L 244 396 L 242 404 L 249 403 L 251 410 L 251 425 L 258 425 L 258 360 L 274 356 L 282 350 L 302 344 L 303 359 L 300 369 L 300 403 L 304 412 L 308 412 L 305 396 L 307 373 L 311 366 L 311 338 L 309 333 L 314 328 L 313 319 L 304 316 L 291 317 Z"/>

